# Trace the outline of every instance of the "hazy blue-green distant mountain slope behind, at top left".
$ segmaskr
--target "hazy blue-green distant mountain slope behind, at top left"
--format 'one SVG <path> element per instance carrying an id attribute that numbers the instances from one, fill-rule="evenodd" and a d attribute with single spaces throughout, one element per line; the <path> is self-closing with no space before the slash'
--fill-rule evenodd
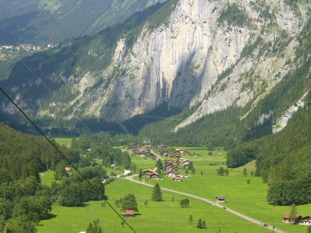
<path id="1" fill-rule="evenodd" d="M 162 1 L 0 0 L 1 39 L 13 45 L 56 44 L 96 33 Z"/>

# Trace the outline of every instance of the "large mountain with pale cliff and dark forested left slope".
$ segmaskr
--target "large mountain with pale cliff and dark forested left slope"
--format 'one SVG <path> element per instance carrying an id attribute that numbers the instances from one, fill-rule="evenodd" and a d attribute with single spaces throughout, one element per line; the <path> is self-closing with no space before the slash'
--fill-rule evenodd
<path id="1" fill-rule="evenodd" d="M 304 61 L 297 48 L 305 48 L 299 38 L 308 31 L 309 6 L 288 0 L 158 3 L 93 36 L 24 58 L 53 94 L 21 63 L 1 85 L 50 126 L 76 118 L 124 121 L 167 104 L 168 110 L 188 109 L 168 119 L 163 132 L 171 138 L 228 113 L 223 132 L 235 132 L 229 141 L 249 140 L 272 133 L 272 124 L 274 131 L 284 127 L 309 90 L 293 76 Z M 4 101 L 1 109 L 15 113 Z M 190 141 L 205 145 L 204 138 Z"/>

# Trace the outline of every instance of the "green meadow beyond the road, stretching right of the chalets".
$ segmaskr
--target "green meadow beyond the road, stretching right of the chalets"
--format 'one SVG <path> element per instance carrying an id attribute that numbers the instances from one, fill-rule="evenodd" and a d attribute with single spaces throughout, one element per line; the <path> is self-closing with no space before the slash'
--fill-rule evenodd
<path id="1" fill-rule="evenodd" d="M 225 206 L 232 208 L 244 215 L 253 217 L 274 225 L 276 228 L 285 231 L 286 233 L 305 233 L 307 226 L 290 225 L 282 222 L 282 216 L 289 213 L 289 206 L 274 206 L 269 205 L 266 200 L 268 184 L 262 182 L 261 177 L 251 177 L 250 172 L 255 171 L 255 161 L 252 161 L 245 166 L 238 168 L 229 168 L 229 176 L 218 176 L 217 169 L 220 166 L 225 166 L 225 151 L 222 151 L 222 156 L 207 155 L 205 148 L 185 148 L 185 150 L 196 151 L 201 157 L 184 156 L 183 158 L 193 161 L 195 174 L 189 175 L 192 178 L 184 178 L 184 182 L 173 182 L 169 178 L 163 178 L 162 181 L 149 181 L 150 184 L 158 182 L 162 187 L 171 188 L 178 191 L 198 195 L 210 200 L 215 200 L 217 195 L 225 195 Z M 200 150 L 202 151 L 200 153 Z M 217 154 L 217 153 L 216 153 Z M 217 163 L 216 166 L 208 166 L 210 163 Z M 243 176 L 244 167 L 247 169 L 248 174 Z M 203 171 L 203 175 L 201 175 Z M 181 174 L 185 174 L 185 169 L 180 169 Z M 247 180 L 250 183 L 247 184 Z M 299 215 L 311 215 L 311 204 L 297 206 Z"/>

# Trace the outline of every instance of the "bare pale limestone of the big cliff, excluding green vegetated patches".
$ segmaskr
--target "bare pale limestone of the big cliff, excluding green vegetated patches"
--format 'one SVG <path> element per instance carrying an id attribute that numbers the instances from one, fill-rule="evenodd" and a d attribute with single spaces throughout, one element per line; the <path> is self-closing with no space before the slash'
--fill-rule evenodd
<path id="1" fill-rule="evenodd" d="M 169 102 L 169 107 L 180 108 L 200 104 L 192 116 L 176 126 L 177 131 L 202 116 L 233 104 L 244 106 L 252 100 L 258 93 L 242 88 L 249 78 L 241 79 L 245 72 L 255 69 L 261 76 L 260 82 L 265 80 L 268 84 L 266 91 L 270 90 L 290 70 L 290 67 L 284 69 L 286 59 L 273 54 L 241 59 L 241 53 L 258 35 L 273 41 L 277 33 L 272 30 L 260 34 L 265 22 L 260 20 L 259 12 L 251 7 L 249 0 L 229 2 L 244 9 L 251 24 L 239 26 L 219 22 L 220 13 L 226 7 L 224 1 L 180 0 L 167 24 L 153 30 L 145 24 L 130 51 L 125 49 L 125 38 L 121 38 L 112 64 L 122 70 L 121 77 L 114 79 L 101 93 L 107 101 L 97 101 L 100 106 L 94 109 L 100 111 L 90 111 L 90 114 L 109 121 L 125 120 L 135 116 L 137 110 L 146 113 L 164 101 Z M 283 1 L 268 1 L 267 4 L 278 8 L 276 24 L 279 29 L 288 31 L 289 35 L 301 30 L 304 17 L 296 17 Z M 289 56 L 293 56 L 295 45 L 295 40 L 287 45 Z M 216 83 L 219 75 L 234 65 L 232 72 Z M 259 78 L 254 82 L 259 84 Z"/>

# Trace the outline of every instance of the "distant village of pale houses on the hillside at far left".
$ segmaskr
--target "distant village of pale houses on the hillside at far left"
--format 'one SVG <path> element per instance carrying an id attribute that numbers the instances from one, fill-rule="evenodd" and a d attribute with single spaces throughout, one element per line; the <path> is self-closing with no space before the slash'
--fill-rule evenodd
<path id="1" fill-rule="evenodd" d="M 55 48 L 55 45 L 49 44 L 46 47 L 33 46 L 33 45 L 0 45 L 0 59 L 6 60 L 8 58 L 14 58 L 17 56 L 18 50 L 24 50 L 26 52 L 41 52 Z"/>

